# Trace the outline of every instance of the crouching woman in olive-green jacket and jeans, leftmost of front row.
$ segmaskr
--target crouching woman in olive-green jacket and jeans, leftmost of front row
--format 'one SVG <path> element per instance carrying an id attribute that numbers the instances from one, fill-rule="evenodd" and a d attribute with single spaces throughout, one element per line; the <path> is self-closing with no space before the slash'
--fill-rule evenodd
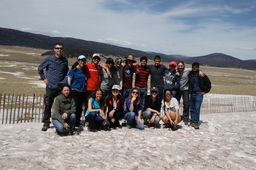
<path id="1" fill-rule="evenodd" d="M 61 95 L 55 98 L 54 113 L 52 115 L 52 124 L 56 128 L 56 134 L 70 128 L 70 135 L 79 135 L 76 132 L 76 106 L 73 98 L 70 98 L 70 86 L 64 84 L 61 89 Z"/>

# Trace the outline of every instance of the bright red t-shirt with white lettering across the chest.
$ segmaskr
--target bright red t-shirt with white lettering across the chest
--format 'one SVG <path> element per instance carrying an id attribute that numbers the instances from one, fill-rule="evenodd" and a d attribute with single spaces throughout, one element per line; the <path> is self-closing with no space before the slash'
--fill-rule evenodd
<path id="1" fill-rule="evenodd" d="M 84 65 L 86 70 L 87 84 L 85 88 L 87 90 L 96 90 L 99 88 L 99 72 L 102 69 L 101 66 L 94 64 L 86 64 Z"/>

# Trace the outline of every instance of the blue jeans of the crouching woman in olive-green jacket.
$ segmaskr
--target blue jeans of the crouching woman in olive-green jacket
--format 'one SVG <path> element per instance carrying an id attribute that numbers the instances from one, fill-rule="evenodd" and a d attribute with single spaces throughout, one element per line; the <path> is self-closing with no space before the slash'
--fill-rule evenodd
<path id="1" fill-rule="evenodd" d="M 76 123 L 76 115 L 75 115 L 75 113 L 72 113 L 71 115 L 68 114 L 67 118 L 64 119 L 64 121 L 68 125 L 70 125 L 70 131 L 72 131 L 72 132 L 75 131 L 75 128 L 76 128 L 76 125 L 75 125 L 75 123 Z M 58 120 L 52 121 L 52 124 L 56 128 L 56 130 L 58 130 L 58 131 L 65 130 L 64 125 L 60 121 L 58 121 Z"/>

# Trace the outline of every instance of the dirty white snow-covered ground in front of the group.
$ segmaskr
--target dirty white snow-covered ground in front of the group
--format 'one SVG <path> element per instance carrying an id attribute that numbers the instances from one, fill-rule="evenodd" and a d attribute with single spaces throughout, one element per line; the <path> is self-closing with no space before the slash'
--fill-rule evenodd
<path id="1" fill-rule="evenodd" d="M 195 130 L 146 128 L 55 135 L 41 123 L 1 124 L 0 169 L 255 170 L 256 112 L 201 115 Z M 68 133 L 68 131 L 67 131 Z"/>

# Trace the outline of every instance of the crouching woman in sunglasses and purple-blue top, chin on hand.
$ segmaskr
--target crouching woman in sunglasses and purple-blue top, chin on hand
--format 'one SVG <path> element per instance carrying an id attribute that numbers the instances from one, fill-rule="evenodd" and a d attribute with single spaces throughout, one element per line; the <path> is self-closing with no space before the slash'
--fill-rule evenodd
<path id="1" fill-rule="evenodd" d="M 144 124 L 141 120 L 140 92 L 137 87 L 132 88 L 128 98 L 126 98 L 125 119 L 127 120 L 126 127 L 144 130 Z"/>

